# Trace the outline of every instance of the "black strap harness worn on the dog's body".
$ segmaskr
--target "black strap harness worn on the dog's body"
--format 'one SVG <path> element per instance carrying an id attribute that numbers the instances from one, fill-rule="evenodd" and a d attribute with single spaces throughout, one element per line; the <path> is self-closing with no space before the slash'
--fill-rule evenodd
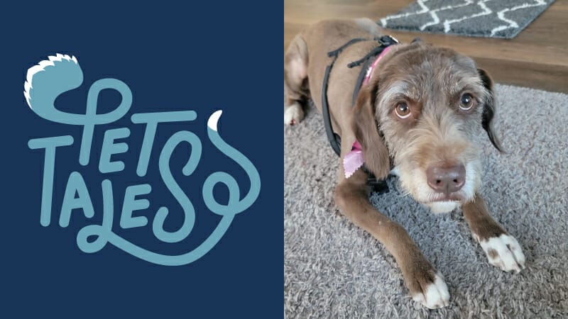
<path id="1" fill-rule="evenodd" d="M 324 127 L 325 133 L 327 134 L 327 140 L 329 140 L 329 144 L 332 145 L 332 149 L 338 156 L 341 156 L 341 138 L 333 131 L 332 118 L 329 115 L 329 106 L 327 105 L 327 82 L 329 82 L 329 73 L 332 72 L 332 67 L 337 60 L 337 57 L 346 47 L 349 47 L 349 45 L 352 45 L 354 43 L 368 40 L 369 39 L 364 38 L 351 39 L 348 43 L 345 43 L 337 50 L 333 50 L 327 53 L 327 56 L 333 57 L 333 60 L 331 63 L 329 63 L 324 73 L 324 82 L 322 84 L 322 116 L 324 118 Z M 351 104 L 353 106 L 355 106 L 355 102 L 357 96 L 359 95 L 359 90 L 361 89 L 361 84 L 363 83 L 367 69 L 374 61 L 374 59 L 371 59 L 371 57 L 380 55 L 386 47 L 398 43 L 398 40 L 391 37 L 391 35 L 383 35 L 381 38 L 375 38 L 375 40 L 378 42 L 377 47 L 371 50 L 371 52 L 368 52 L 368 54 L 362 57 L 360 60 L 351 62 L 349 63 L 349 65 L 347 65 L 347 67 L 349 67 L 350 69 L 353 67 L 358 67 L 361 64 L 363 65 L 363 67 L 361 67 L 361 72 L 359 72 L 359 77 L 357 77 L 357 82 L 355 83 L 353 96 L 351 97 Z M 378 194 L 388 193 L 388 185 L 386 184 L 386 180 L 377 179 L 373 175 L 373 173 L 369 172 L 368 169 L 366 169 L 365 166 L 363 166 L 363 169 L 364 172 L 368 174 L 367 184 L 372 187 L 373 191 L 376 191 Z"/>

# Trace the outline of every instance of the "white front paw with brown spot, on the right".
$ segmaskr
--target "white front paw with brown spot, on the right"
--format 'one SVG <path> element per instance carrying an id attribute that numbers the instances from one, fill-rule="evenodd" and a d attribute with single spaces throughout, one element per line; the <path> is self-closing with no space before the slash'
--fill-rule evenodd
<path id="1" fill-rule="evenodd" d="M 525 269 L 525 255 L 515 237 L 503 234 L 499 237 L 491 237 L 488 240 L 479 240 L 484 249 L 489 264 L 499 267 L 505 272 Z"/>

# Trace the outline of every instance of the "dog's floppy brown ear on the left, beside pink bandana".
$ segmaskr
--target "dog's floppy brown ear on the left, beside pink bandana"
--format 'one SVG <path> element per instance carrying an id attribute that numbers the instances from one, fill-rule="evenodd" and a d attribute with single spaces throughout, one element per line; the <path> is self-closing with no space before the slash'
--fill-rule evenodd
<path id="1" fill-rule="evenodd" d="M 361 144 L 365 167 L 376 178 L 384 179 L 391 171 L 391 162 L 385 142 L 378 133 L 375 118 L 377 90 L 377 84 L 369 84 L 361 88 L 353 110 L 351 128 L 355 133 L 355 138 Z"/>

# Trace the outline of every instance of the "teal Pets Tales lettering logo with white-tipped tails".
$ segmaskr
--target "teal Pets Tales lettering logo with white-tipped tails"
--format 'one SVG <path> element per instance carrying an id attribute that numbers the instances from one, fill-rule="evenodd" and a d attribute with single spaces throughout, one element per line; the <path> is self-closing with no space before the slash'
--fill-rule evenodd
<path id="1" fill-rule="evenodd" d="M 80 150 L 78 163 L 84 167 L 89 167 L 91 158 L 92 142 L 94 129 L 104 127 L 109 123 L 114 123 L 123 118 L 128 113 L 132 104 L 132 92 L 126 83 L 119 79 L 99 79 L 90 87 L 87 94 L 87 106 L 84 113 L 67 113 L 55 108 L 55 99 L 61 94 L 77 89 L 83 83 L 83 72 L 77 62 L 77 58 L 69 55 L 55 55 L 48 57 L 48 60 L 40 61 L 38 65 L 28 69 L 26 82 L 24 83 L 23 94 L 31 110 L 45 120 L 65 125 L 80 125 L 82 136 L 80 138 Z M 121 103 L 109 113 L 97 113 L 97 101 L 99 94 L 104 89 L 112 89 L 121 95 Z M 198 247 L 194 250 L 180 255 L 160 254 L 139 247 L 133 242 L 125 240 L 114 233 L 114 200 L 112 193 L 111 179 L 104 179 L 101 184 L 103 209 L 102 212 L 95 212 L 89 196 L 89 187 L 85 183 L 80 172 L 71 172 L 65 186 L 65 193 L 62 199 L 62 206 L 59 214 L 59 225 L 66 228 L 70 223 L 71 213 L 75 208 L 80 208 L 86 218 L 92 218 L 95 213 L 102 213 L 101 225 L 86 225 L 77 233 L 77 246 L 86 253 L 99 252 L 107 243 L 118 247 L 124 252 L 132 254 L 140 259 L 167 266 L 178 266 L 189 264 L 200 259 L 207 254 L 217 242 L 223 237 L 226 230 L 231 225 L 235 216 L 246 211 L 258 198 L 261 190 L 261 178 L 254 164 L 227 144 L 217 131 L 217 123 L 222 111 L 216 111 L 207 121 L 207 138 L 209 142 L 217 147 L 227 157 L 239 164 L 249 177 L 251 188 L 249 192 L 241 198 L 239 184 L 236 179 L 226 172 L 214 172 L 205 179 L 202 185 L 202 197 L 205 205 L 214 214 L 222 216 L 217 227 Z M 141 152 L 138 156 L 136 174 L 138 177 L 145 177 L 148 172 L 148 163 L 153 151 L 158 124 L 175 123 L 180 121 L 194 121 L 197 118 L 195 111 L 168 111 L 154 113 L 135 113 L 130 120 L 133 125 L 143 125 L 144 135 L 142 140 Z M 117 139 L 128 138 L 129 128 L 113 128 L 104 130 L 102 148 L 99 155 L 98 172 L 104 174 L 121 172 L 124 170 L 124 162 L 119 160 L 112 161 L 111 156 L 125 153 L 129 146 L 126 142 L 116 142 Z M 75 139 L 71 135 L 39 137 L 28 141 L 31 150 L 43 150 L 43 186 L 40 207 L 40 224 L 48 226 L 52 223 L 52 217 L 56 213 L 52 211 L 53 184 L 55 177 L 55 161 L 58 147 L 74 145 Z M 187 130 L 180 130 L 168 138 L 167 142 L 159 152 L 158 169 L 163 184 L 168 191 L 178 201 L 183 208 L 184 221 L 180 228 L 170 232 L 164 229 L 163 225 L 168 216 L 168 208 L 161 207 L 156 211 L 152 221 L 152 232 L 158 240 L 166 243 L 175 243 L 184 240 L 192 232 L 195 225 L 195 208 L 185 191 L 175 181 L 170 170 L 170 157 L 175 148 L 181 143 L 191 145 L 190 158 L 182 168 L 182 174 L 190 176 L 197 169 L 202 155 L 202 141 L 200 138 Z M 90 167 L 89 167 L 90 168 Z M 92 168 L 97 169 L 97 168 Z M 222 183 L 229 189 L 229 201 L 226 205 L 219 203 L 213 196 L 214 186 Z M 152 191 L 151 184 L 135 184 L 126 187 L 124 203 L 120 212 L 119 226 L 122 229 L 140 228 L 148 225 L 148 218 L 145 216 L 133 216 L 133 212 L 149 208 L 150 202 L 145 198 L 136 196 L 150 196 Z M 77 211 L 75 211 L 76 213 Z M 87 240 L 87 238 L 89 240 Z M 93 240 L 94 238 L 94 240 Z"/>

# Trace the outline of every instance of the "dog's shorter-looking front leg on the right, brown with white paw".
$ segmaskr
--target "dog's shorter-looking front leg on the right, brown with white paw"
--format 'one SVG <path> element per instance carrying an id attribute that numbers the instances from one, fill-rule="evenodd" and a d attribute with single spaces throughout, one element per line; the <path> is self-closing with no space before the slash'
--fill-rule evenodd
<path id="1" fill-rule="evenodd" d="M 509 235 L 488 213 L 481 195 L 464 204 L 464 218 L 471 233 L 481 244 L 489 263 L 506 272 L 520 272 L 525 268 L 525 255 L 515 238 Z"/>

